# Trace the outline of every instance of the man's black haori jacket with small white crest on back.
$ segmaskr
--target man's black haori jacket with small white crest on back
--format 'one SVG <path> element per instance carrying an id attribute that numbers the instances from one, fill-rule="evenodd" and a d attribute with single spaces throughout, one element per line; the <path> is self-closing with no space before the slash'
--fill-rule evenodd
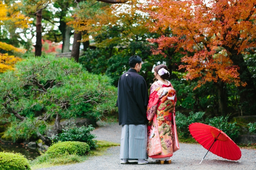
<path id="1" fill-rule="evenodd" d="M 118 81 L 117 104 L 119 125 L 147 124 L 148 87 L 145 79 L 133 68 L 124 73 Z"/>

